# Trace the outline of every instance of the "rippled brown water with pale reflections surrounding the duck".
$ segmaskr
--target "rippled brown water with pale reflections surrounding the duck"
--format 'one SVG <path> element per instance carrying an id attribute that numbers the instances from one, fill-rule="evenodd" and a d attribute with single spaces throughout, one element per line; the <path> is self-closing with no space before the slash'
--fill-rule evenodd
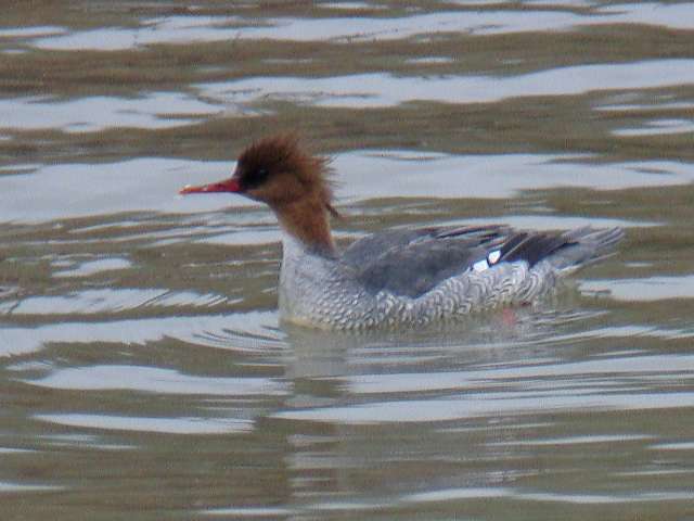
<path id="1" fill-rule="evenodd" d="M 250 140 L 335 157 L 342 238 L 620 225 L 532 309 L 278 325 Z M 694 3 L 11 2 L 0 519 L 694 519 Z"/>

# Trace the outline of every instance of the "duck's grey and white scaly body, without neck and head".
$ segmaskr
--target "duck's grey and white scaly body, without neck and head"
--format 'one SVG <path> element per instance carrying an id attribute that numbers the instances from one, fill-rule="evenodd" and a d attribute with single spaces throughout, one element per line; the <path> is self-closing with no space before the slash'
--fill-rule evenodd
<path id="1" fill-rule="evenodd" d="M 365 237 L 337 257 L 283 241 L 280 315 L 335 330 L 422 327 L 474 312 L 529 304 L 592 263 L 620 229 L 564 233 L 503 226 L 396 230 Z"/>

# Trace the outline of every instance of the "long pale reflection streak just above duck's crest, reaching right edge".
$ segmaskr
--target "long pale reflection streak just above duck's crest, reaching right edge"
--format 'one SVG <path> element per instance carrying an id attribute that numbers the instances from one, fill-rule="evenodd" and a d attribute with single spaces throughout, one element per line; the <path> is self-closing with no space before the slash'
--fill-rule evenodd
<path id="1" fill-rule="evenodd" d="M 509 98 L 579 96 L 593 90 L 647 89 L 694 81 L 694 60 L 580 65 L 512 76 L 402 77 L 358 74 L 329 78 L 250 78 L 197 86 L 206 98 L 248 104 L 258 99 L 318 106 L 393 106 L 413 101 L 491 103 Z"/>

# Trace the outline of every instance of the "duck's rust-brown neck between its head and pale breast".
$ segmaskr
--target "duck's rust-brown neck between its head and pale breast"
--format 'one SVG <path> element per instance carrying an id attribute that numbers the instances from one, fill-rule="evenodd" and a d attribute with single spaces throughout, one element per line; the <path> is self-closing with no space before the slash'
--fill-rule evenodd
<path id="1" fill-rule="evenodd" d="M 280 226 L 308 253 L 334 257 L 335 243 L 325 204 L 318 198 L 305 198 L 274 208 Z"/>

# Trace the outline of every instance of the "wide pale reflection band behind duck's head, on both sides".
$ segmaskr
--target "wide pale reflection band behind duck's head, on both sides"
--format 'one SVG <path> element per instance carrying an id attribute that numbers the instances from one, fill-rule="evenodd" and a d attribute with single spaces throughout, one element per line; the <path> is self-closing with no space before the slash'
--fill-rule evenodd
<path id="1" fill-rule="evenodd" d="M 600 191 L 686 186 L 694 179 L 694 169 L 674 161 L 652 160 L 595 163 L 592 155 L 561 154 L 475 154 L 475 155 L 414 155 L 406 151 L 375 150 L 339 154 L 332 162 L 337 171 L 336 194 L 342 204 L 376 203 L 388 198 L 494 199 L 513 200 L 523 191 L 574 187 Z M 237 213 L 233 217 L 211 216 L 194 224 L 183 223 L 185 229 L 165 229 L 159 238 L 185 236 L 215 228 L 223 221 L 219 232 L 230 226 L 243 233 L 249 224 L 267 224 L 269 230 L 252 229 L 243 238 L 230 237 L 230 243 L 249 244 L 278 241 L 279 233 L 271 216 L 259 204 L 228 194 L 205 198 L 177 196 L 179 187 L 213 180 L 231 174 L 232 162 L 200 162 L 179 160 L 131 160 L 95 165 L 50 165 L 30 173 L 0 177 L 0 190 L 16 193 L 3 207 L 3 215 L 13 223 L 53 221 L 61 218 L 113 215 L 119 212 L 221 212 L 256 207 L 259 213 Z M 193 174 L 196 173 L 196 174 Z M 374 183 L 374 173 L 382 179 Z M 88 178 L 89 182 L 81 180 Z M 62 206 L 56 200 L 64 187 L 72 203 Z M 74 188 L 73 188 L 74 187 Z M 162 188 L 169 190 L 166 193 Z M 602 195 L 605 200 L 613 194 Z M 404 203 L 403 203 L 404 204 Z M 400 203 L 398 203 L 398 206 Z M 397 211 L 398 206 L 394 208 Z M 401 206 L 400 206 L 401 207 Z M 452 216 L 455 217 L 455 216 Z M 550 215 L 551 223 L 565 216 Z M 629 226 L 620 220 L 620 226 Z M 118 221 L 111 226 L 127 226 Z M 137 224 L 134 227 L 137 228 Z M 556 226 L 574 226 L 561 224 Z M 603 226 L 608 226 L 607 224 Z M 614 226 L 614 225 L 612 225 Z M 196 227 L 197 229 L 193 228 Z M 550 226 L 551 227 L 551 226 Z M 93 231 L 88 228 L 86 231 Z M 75 233 L 85 230 L 75 230 Z M 191 232 L 193 237 L 191 238 Z M 149 233 L 151 238 L 154 233 Z M 267 237 L 266 237 L 267 236 Z M 261 240 L 260 238 L 265 238 Z"/>

